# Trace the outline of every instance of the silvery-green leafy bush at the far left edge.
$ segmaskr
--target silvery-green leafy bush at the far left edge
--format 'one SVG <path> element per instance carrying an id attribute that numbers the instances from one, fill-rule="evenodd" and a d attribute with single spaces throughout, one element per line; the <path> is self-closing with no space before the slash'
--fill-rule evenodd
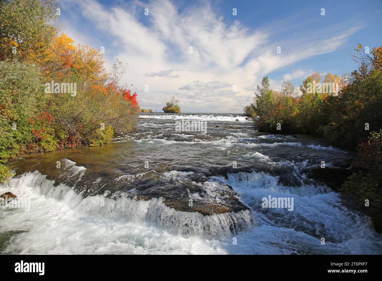
<path id="1" fill-rule="evenodd" d="M 15 156 L 27 150 L 32 143 L 30 118 L 45 101 L 43 84 L 37 67 L 17 60 L 0 62 L 0 159 Z M 36 128 L 38 130 L 38 128 Z M 2 167 L 0 179 L 9 176 Z"/>

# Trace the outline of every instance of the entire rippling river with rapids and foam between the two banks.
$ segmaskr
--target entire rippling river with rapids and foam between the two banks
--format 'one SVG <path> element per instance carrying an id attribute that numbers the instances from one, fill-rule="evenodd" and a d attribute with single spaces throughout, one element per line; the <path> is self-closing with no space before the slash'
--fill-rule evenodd
<path id="1" fill-rule="evenodd" d="M 0 210 L 0 251 L 382 253 L 369 220 L 308 175 L 321 161 L 349 166 L 350 152 L 258 133 L 235 114 L 139 117 L 109 145 L 10 161 L 17 175 L 0 194 L 30 198 L 31 208 Z M 206 134 L 176 131 L 181 119 L 206 121 Z M 269 195 L 293 197 L 293 211 L 262 208 Z"/>

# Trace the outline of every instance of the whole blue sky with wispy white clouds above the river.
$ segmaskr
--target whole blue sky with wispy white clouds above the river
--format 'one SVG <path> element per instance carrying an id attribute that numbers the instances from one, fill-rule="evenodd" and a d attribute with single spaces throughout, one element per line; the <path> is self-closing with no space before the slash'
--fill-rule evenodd
<path id="1" fill-rule="evenodd" d="M 60 8 L 61 31 L 104 47 L 108 70 L 127 63 L 121 81 L 154 112 L 175 96 L 181 112 L 242 113 L 264 76 L 275 90 L 284 79 L 298 88 L 316 71 L 356 69 L 358 43 L 382 44 L 381 0 L 60 0 Z"/>

